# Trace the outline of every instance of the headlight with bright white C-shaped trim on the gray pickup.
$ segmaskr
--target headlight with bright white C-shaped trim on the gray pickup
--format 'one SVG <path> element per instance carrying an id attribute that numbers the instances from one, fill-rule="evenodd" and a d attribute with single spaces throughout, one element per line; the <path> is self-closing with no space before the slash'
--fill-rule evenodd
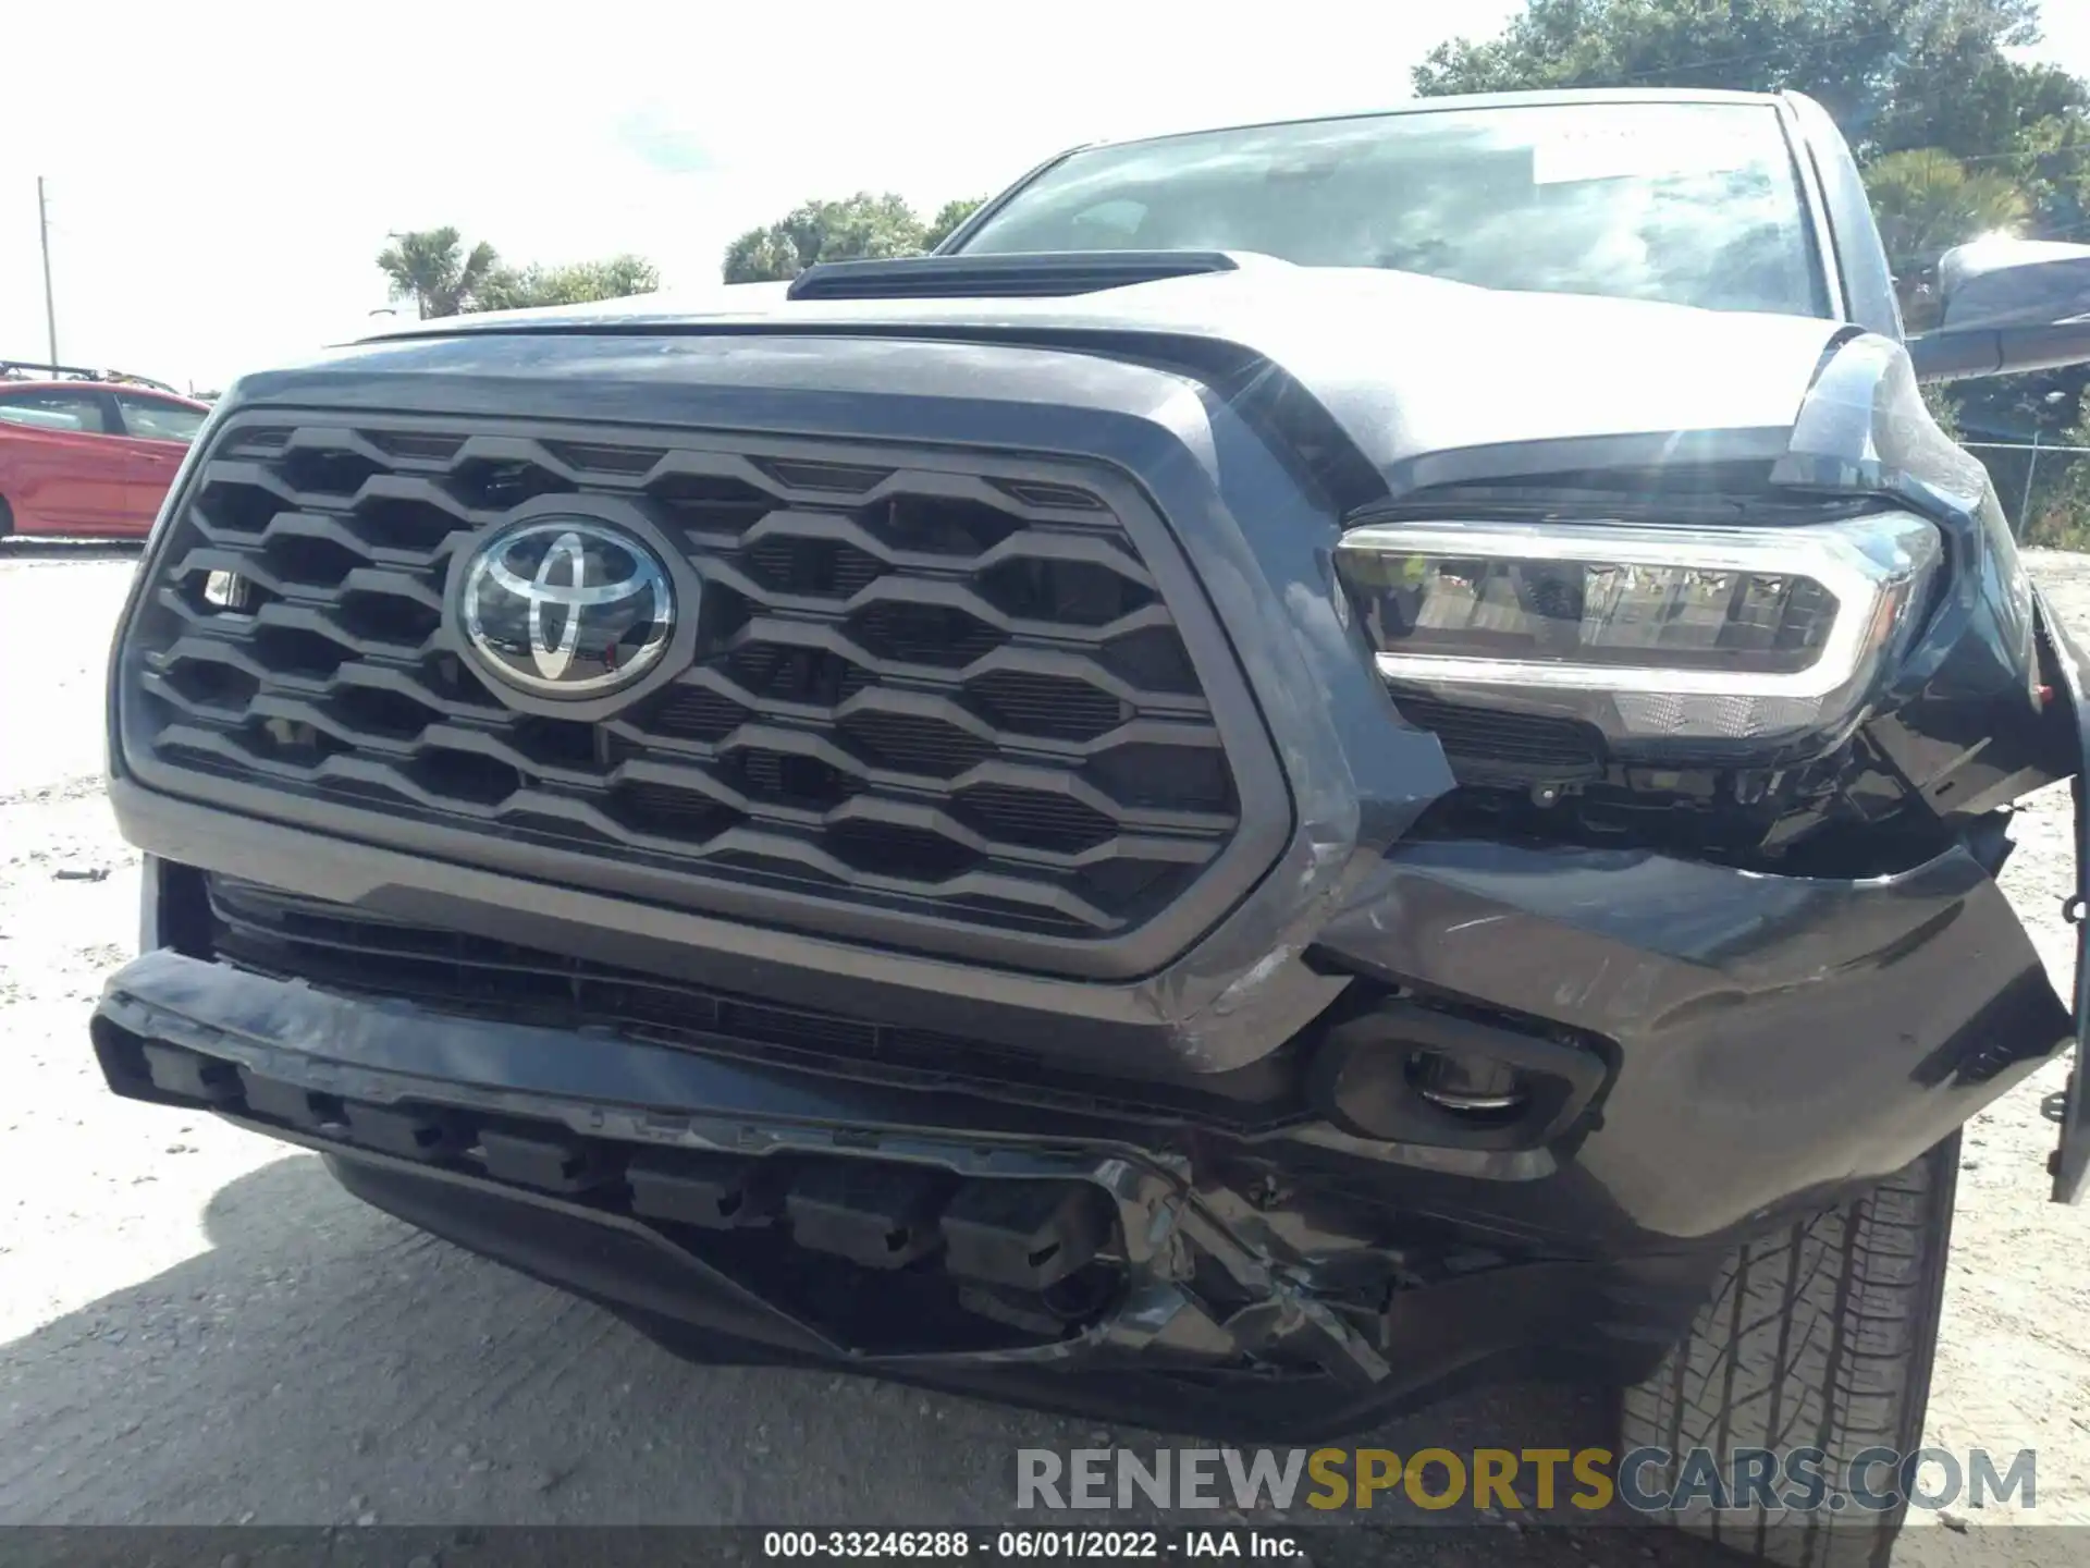
<path id="1" fill-rule="evenodd" d="M 1338 550 L 1390 684 L 1622 742 L 1835 730 L 1902 652 L 1923 518 L 1797 527 L 1377 523 Z"/>

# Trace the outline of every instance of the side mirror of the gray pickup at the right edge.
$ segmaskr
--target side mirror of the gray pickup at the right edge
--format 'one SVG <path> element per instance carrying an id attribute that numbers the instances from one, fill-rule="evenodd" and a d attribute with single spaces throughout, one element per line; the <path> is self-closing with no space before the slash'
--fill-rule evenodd
<path id="1" fill-rule="evenodd" d="M 1923 381 L 2090 364 L 2090 245 L 1958 245 L 1937 261 L 1937 328 L 1908 343 Z"/>

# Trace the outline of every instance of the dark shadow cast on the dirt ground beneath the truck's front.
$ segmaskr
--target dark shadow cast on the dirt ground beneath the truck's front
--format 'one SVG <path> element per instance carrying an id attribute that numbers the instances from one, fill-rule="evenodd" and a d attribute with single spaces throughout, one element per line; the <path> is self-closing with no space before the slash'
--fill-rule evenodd
<path id="1" fill-rule="evenodd" d="M 207 1252 L 0 1346 L 0 1522 L 1037 1524 L 1014 1509 L 1018 1447 L 1158 1443 L 859 1378 L 675 1361 L 357 1204 L 305 1154 L 219 1190 L 203 1223 Z M 1561 1388 L 1463 1397 L 1373 1438 L 1400 1453 L 1601 1440 L 1603 1401 Z M 1352 1518 L 1453 1516 L 1381 1499 Z M 1553 1560 L 1542 1539 L 1559 1562 L 1645 1562 L 1653 1541 L 1664 1562 L 1703 1558 L 1647 1530 L 1427 1535 L 1415 1562 L 1457 1562 L 1457 1543 L 1476 1562 L 1511 1543 Z M 1319 1562 L 1352 1558 L 1317 1539 Z M 1354 1555 L 1407 1551 L 1373 1539 Z"/>

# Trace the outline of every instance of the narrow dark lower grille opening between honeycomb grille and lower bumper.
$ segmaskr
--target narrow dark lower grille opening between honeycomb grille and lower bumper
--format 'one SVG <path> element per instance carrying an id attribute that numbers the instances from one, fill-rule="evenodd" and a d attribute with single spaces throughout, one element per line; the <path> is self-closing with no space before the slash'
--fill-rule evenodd
<path id="1" fill-rule="evenodd" d="M 230 876 L 205 876 L 203 893 L 209 953 L 278 981 L 545 1029 L 614 1029 L 665 1045 L 725 1050 L 826 1070 L 876 1070 L 918 1087 L 1014 1091 L 1062 1110 L 1198 1114 L 1244 1129 L 1273 1127 L 1300 1114 L 1290 1093 L 1239 1100 L 1183 1085 L 1104 1079 L 1055 1066 L 1035 1052 L 740 997 L 520 943 L 391 920 Z"/>

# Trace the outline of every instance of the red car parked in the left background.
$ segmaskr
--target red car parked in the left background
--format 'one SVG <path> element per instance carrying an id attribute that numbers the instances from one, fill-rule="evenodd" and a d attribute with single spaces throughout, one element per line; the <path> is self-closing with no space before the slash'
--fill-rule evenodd
<path id="1" fill-rule="evenodd" d="M 0 364 L 0 537 L 142 539 L 209 403 L 96 372 Z"/>

